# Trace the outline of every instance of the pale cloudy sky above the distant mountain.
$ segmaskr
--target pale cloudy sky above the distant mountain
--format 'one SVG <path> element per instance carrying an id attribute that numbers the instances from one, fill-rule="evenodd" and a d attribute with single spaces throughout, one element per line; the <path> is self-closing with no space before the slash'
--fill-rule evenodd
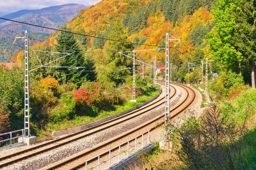
<path id="1" fill-rule="evenodd" d="M 35 10 L 62 4 L 83 4 L 91 6 L 100 0 L 0 0 L 0 16 L 20 10 Z"/>

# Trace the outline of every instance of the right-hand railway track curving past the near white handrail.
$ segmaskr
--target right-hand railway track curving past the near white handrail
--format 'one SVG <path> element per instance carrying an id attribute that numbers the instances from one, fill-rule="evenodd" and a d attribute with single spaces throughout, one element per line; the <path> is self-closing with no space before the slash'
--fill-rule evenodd
<path id="1" fill-rule="evenodd" d="M 158 82 L 160 83 L 160 82 Z M 173 83 L 174 84 L 174 83 Z M 195 99 L 196 93 L 193 89 L 189 88 L 185 85 L 176 84 L 186 91 L 186 97 L 182 100 L 180 104 L 173 107 L 170 112 L 170 118 L 173 119 L 176 116 L 178 116 L 180 113 L 183 113 L 184 109 L 186 109 Z M 102 152 L 108 151 L 108 149 L 115 147 L 116 145 L 122 144 L 125 141 L 128 141 L 129 139 L 136 137 L 145 131 L 149 129 L 156 130 L 156 127 L 159 127 L 160 124 L 164 123 L 164 113 L 153 118 L 152 120 L 140 125 L 139 127 L 136 127 L 132 130 L 129 130 L 128 132 L 125 132 L 119 136 L 116 136 L 114 138 L 111 138 L 110 140 L 97 145 L 96 147 L 80 152 L 76 155 L 73 155 L 72 157 L 69 157 L 67 159 L 63 159 L 57 163 L 54 163 L 52 165 L 46 166 L 42 169 L 49 170 L 49 169 L 84 169 L 85 168 L 85 161 L 93 158 L 97 155 L 99 155 Z M 94 161 L 94 164 L 97 164 L 97 161 Z M 93 166 L 93 165 L 91 165 Z M 90 167 L 90 164 L 87 165 L 87 167 Z"/>

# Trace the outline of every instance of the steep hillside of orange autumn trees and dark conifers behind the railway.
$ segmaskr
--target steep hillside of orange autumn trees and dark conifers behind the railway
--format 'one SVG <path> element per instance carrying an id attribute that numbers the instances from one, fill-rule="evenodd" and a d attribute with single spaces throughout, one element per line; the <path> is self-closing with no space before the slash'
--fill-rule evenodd
<path id="1" fill-rule="evenodd" d="M 102 75 L 98 72 L 98 80 L 112 80 L 122 76 L 124 73 L 116 73 L 115 69 L 118 62 L 113 58 L 126 57 L 115 54 L 116 51 L 154 49 L 165 46 L 165 33 L 169 32 L 176 38 L 181 39 L 176 49 L 171 49 L 171 62 L 173 66 L 182 65 L 181 69 L 174 70 L 172 79 L 180 78 L 181 82 L 187 81 L 187 63 L 183 60 L 197 60 L 205 57 L 211 58 L 209 45 L 205 42 L 205 35 L 213 27 L 213 15 L 209 12 L 214 1 L 101 1 L 88 9 L 82 10 L 67 25 L 76 33 L 100 37 L 77 36 L 77 41 L 86 51 L 87 55 L 95 61 L 96 70 L 105 70 L 107 74 Z M 57 34 L 56 34 L 57 35 Z M 49 47 L 53 43 L 54 36 L 49 38 Z M 138 44 L 150 44 L 156 47 L 125 44 L 114 41 L 128 41 Z M 156 51 L 140 52 L 136 58 L 150 61 Z M 165 59 L 164 50 L 157 55 L 157 60 Z M 102 61 L 98 63 L 97 61 Z M 110 61 L 109 61 L 110 59 Z M 117 62 L 117 63 L 116 63 Z M 113 66 L 113 63 L 115 63 Z M 104 67 L 108 64 L 109 67 Z M 161 64 L 161 63 L 159 63 Z M 200 65 L 198 60 L 196 63 Z M 125 66 L 129 64 L 126 63 Z M 103 67 L 102 67 L 103 66 Z M 121 68 L 121 67 L 120 67 Z M 125 68 L 125 67 L 123 67 Z M 121 68 L 122 69 L 122 68 Z M 141 73 L 141 70 L 139 70 Z M 192 82 L 199 81 L 199 71 L 191 75 Z M 146 75 L 149 70 L 146 71 Z M 194 79 L 193 79 L 194 78 Z"/>

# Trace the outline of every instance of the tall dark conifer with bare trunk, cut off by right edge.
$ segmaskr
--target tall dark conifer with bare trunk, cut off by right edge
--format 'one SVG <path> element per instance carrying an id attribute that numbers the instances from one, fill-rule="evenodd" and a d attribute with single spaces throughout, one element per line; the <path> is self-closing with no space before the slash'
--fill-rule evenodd
<path id="1" fill-rule="evenodd" d="M 231 14 L 236 22 L 232 44 L 243 54 L 245 62 L 251 66 L 252 88 L 256 87 L 256 1 L 237 1 L 237 8 Z"/>

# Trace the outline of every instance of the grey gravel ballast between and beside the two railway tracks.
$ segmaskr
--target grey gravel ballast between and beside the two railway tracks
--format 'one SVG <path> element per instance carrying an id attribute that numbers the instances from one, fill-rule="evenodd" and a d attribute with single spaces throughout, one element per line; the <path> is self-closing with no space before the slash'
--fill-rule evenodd
<path id="1" fill-rule="evenodd" d="M 184 95 L 183 92 L 177 88 L 176 95 L 170 102 L 170 107 L 173 107 L 174 105 L 176 105 L 181 100 L 182 95 Z M 199 94 L 198 96 L 200 96 L 200 99 L 197 99 L 195 104 L 190 109 L 195 110 L 199 116 L 202 113 L 203 108 L 200 108 L 201 101 L 202 101 L 201 94 Z M 64 145 L 60 148 L 56 148 L 52 151 L 48 151 L 43 154 L 37 155 L 36 157 L 34 157 L 32 159 L 24 160 L 20 163 L 13 164 L 12 166 L 7 166 L 4 169 L 39 169 L 39 168 L 42 168 L 44 166 L 50 165 L 54 162 L 57 162 L 61 159 L 67 158 L 73 154 L 76 154 L 76 153 L 86 150 L 88 148 L 92 148 L 94 145 L 104 142 L 104 141 L 106 141 L 112 137 L 115 137 L 119 134 L 122 134 L 125 131 L 133 129 L 133 128 L 139 126 L 140 124 L 143 124 L 143 123 L 149 121 L 153 117 L 158 116 L 159 114 L 161 114 L 163 112 L 164 112 L 164 106 L 158 107 L 158 108 L 151 110 L 150 112 L 147 112 L 143 115 L 140 115 L 134 119 L 123 122 L 121 124 L 118 124 L 114 127 L 103 130 L 101 132 L 95 133 L 94 135 L 91 135 L 89 137 L 85 137 L 85 138 L 82 138 L 75 142 L 72 142 L 70 144 Z M 152 134 L 151 141 L 155 142 L 155 141 L 163 140 L 163 135 L 161 135 L 161 133 L 162 133 L 162 130 L 159 131 L 159 133 Z M 6 154 L 5 152 L 8 152 L 8 154 L 11 154 L 10 151 L 17 152 L 22 149 L 27 149 L 28 147 L 33 147 L 33 146 L 12 148 L 11 150 L 8 149 L 9 151 L 5 150 L 5 151 L 1 151 L 0 153 Z"/>

